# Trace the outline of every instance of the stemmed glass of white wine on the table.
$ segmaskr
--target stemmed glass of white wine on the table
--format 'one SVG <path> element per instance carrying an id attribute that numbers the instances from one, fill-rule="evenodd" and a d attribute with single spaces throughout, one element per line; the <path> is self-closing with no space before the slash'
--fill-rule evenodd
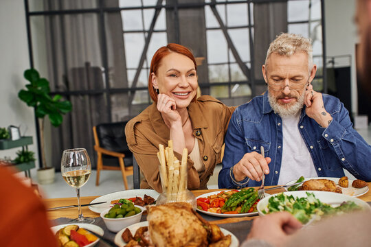
<path id="1" fill-rule="evenodd" d="M 75 148 L 63 151 L 60 161 L 60 172 L 66 183 L 76 188 L 78 198 L 78 218 L 70 222 L 93 223 L 92 217 L 84 217 L 81 212 L 80 187 L 87 183 L 91 174 L 90 158 L 85 148 Z"/>

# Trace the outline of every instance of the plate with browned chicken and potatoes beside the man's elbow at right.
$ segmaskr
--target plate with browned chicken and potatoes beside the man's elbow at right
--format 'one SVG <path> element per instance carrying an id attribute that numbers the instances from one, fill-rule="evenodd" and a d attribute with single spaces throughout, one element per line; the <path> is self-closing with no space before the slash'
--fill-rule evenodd
<path id="1" fill-rule="evenodd" d="M 296 182 L 297 180 L 293 180 L 286 185 L 292 185 Z M 287 190 L 287 188 L 285 189 Z M 363 180 L 348 179 L 346 176 L 342 178 L 304 178 L 304 183 L 298 185 L 295 190 L 330 191 L 342 193 L 346 196 L 359 197 L 368 192 L 368 184 Z"/>

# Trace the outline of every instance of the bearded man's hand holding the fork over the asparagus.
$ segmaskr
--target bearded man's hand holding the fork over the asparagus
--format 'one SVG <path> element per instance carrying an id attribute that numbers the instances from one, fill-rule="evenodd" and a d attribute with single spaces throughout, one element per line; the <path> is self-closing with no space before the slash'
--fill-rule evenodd
<path id="1" fill-rule="evenodd" d="M 252 180 L 260 181 L 263 171 L 269 174 L 268 164 L 271 158 L 263 158 L 258 152 L 246 153 L 241 160 L 234 165 L 233 174 L 237 181 L 249 177 Z"/>

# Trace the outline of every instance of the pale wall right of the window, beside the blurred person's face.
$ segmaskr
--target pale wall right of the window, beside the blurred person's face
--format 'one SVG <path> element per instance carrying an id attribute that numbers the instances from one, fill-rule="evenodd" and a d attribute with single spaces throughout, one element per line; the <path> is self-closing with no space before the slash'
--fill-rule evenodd
<path id="1" fill-rule="evenodd" d="M 352 113 L 358 113 L 355 45 L 358 41 L 354 16 L 356 0 L 325 0 L 326 56 L 352 56 Z"/>

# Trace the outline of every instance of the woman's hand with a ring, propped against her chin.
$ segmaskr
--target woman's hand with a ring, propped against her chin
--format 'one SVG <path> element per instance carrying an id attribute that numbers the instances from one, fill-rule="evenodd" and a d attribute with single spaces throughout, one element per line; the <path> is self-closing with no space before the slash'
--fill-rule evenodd
<path id="1" fill-rule="evenodd" d="M 177 104 L 175 104 L 174 99 L 164 93 L 159 93 L 157 95 L 157 110 L 159 110 L 169 128 L 176 124 L 181 126 L 181 115 L 177 111 Z"/>

